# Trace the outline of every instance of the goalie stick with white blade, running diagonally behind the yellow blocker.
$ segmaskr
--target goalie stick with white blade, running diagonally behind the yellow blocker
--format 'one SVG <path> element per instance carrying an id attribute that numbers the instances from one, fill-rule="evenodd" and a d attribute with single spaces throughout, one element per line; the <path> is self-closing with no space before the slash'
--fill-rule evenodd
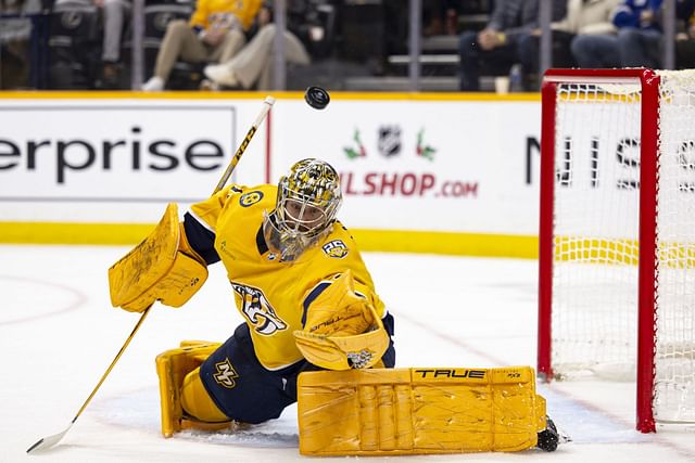
<path id="1" fill-rule="evenodd" d="M 251 142 L 251 139 L 253 138 L 254 133 L 256 132 L 256 130 L 258 129 L 263 120 L 266 118 L 266 116 L 268 115 L 268 112 L 273 107 L 273 104 L 275 104 L 275 99 L 273 97 L 266 97 L 265 100 L 263 101 L 263 108 L 261 110 L 255 121 L 247 132 L 247 136 L 244 137 L 243 141 L 237 149 L 237 152 L 231 157 L 231 160 L 229 162 L 227 169 L 223 173 L 222 178 L 219 179 L 219 182 L 217 182 L 217 187 L 215 187 L 215 190 L 213 191 L 213 195 L 217 193 L 219 190 L 222 190 L 223 188 L 225 188 L 227 180 L 229 180 L 229 177 L 231 177 L 231 173 L 237 167 L 237 164 L 239 164 L 239 159 L 241 158 L 241 155 L 247 151 L 247 146 L 249 146 L 249 143 Z M 111 373 L 111 370 L 113 370 L 114 365 L 116 364 L 116 362 L 118 361 L 123 352 L 126 350 L 126 347 L 128 347 L 128 345 L 130 344 L 130 340 L 132 340 L 132 338 L 135 337 L 135 334 L 138 332 L 138 330 L 140 329 L 140 325 L 142 325 L 142 322 L 144 321 L 146 317 L 150 312 L 152 305 L 154 305 L 154 303 L 150 304 L 150 306 L 142 311 L 142 314 L 140 316 L 140 319 L 136 323 L 135 327 L 132 329 L 132 332 L 130 333 L 126 342 L 123 344 L 123 347 L 121 347 L 121 350 L 118 350 L 118 353 L 116 353 L 116 357 L 113 359 L 113 361 L 106 369 L 105 373 L 101 376 L 101 380 L 99 380 L 99 383 L 92 389 L 87 400 L 85 400 L 83 406 L 79 408 L 79 410 L 77 411 L 77 414 L 75 415 L 73 421 L 70 423 L 70 425 L 61 433 L 40 438 L 36 443 L 34 443 L 31 447 L 29 447 L 26 450 L 27 453 L 48 450 L 53 446 L 55 446 L 58 442 L 60 442 L 61 439 L 63 439 L 63 437 L 67 434 L 67 432 L 73 427 L 73 425 L 75 424 L 79 415 L 85 411 L 85 409 L 87 408 L 91 399 L 94 397 L 94 395 L 97 394 L 97 390 L 99 390 L 103 382 L 106 380 L 106 376 L 109 376 L 109 373 Z"/>

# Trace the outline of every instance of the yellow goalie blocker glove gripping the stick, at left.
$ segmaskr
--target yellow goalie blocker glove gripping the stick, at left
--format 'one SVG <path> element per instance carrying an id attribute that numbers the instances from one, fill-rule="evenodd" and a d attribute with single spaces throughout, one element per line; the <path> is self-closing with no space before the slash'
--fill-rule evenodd
<path id="1" fill-rule="evenodd" d="M 109 269 L 111 304 L 131 312 L 142 312 L 156 300 L 181 307 L 207 279 L 202 259 L 192 255 L 180 231 L 178 207 L 169 203 L 152 233 Z"/>

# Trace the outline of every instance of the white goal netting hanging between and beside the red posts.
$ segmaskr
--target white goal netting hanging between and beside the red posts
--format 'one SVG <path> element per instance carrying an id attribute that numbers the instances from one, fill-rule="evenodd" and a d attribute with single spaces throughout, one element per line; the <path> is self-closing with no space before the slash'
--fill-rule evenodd
<path id="1" fill-rule="evenodd" d="M 635 378 L 642 214 L 657 229 L 654 416 L 695 422 L 695 72 L 657 74 L 654 210 L 640 203 L 639 79 L 557 86 L 552 365 Z"/>

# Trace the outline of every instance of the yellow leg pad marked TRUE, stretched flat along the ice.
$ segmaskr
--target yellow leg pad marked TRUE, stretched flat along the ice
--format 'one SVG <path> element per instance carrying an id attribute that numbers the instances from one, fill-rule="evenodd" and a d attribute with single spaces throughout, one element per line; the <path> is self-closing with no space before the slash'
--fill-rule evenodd
<path id="1" fill-rule="evenodd" d="M 305 372 L 298 398 L 305 455 L 518 451 L 545 429 L 530 366 Z"/>

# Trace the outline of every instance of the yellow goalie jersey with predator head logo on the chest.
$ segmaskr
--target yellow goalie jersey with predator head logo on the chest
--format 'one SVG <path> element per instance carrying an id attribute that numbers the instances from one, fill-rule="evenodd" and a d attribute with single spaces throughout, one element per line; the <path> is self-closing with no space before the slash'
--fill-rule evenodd
<path id="1" fill-rule="evenodd" d="M 293 333 L 303 330 L 312 301 L 336 275 L 350 271 L 355 293 L 367 298 L 379 318 L 386 316 L 355 242 L 340 222 L 296 260 L 281 261 L 268 248 L 263 220 L 275 208 L 276 195 L 276 185 L 230 185 L 193 205 L 184 227 L 191 247 L 207 263 L 222 259 L 256 357 L 268 370 L 303 359 Z M 214 252 L 205 249 L 213 240 Z"/>

